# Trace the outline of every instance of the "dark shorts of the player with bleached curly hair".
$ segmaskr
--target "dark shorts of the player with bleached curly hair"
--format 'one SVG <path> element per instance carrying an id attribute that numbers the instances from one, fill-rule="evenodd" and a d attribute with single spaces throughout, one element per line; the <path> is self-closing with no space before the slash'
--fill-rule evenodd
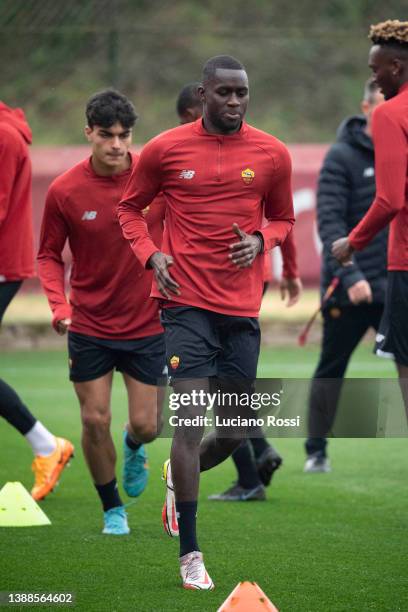
<path id="1" fill-rule="evenodd" d="M 384 314 L 374 352 L 408 366 L 408 272 L 388 272 Z"/>

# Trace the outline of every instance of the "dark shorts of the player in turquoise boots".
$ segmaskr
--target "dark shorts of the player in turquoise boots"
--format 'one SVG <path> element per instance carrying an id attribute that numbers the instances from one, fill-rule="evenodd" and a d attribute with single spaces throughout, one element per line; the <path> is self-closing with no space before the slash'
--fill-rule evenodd
<path id="1" fill-rule="evenodd" d="M 108 340 L 68 332 L 69 378 L 95 380 L 116 369 L 147 385 L 167 384 L 164 334 Z"/>

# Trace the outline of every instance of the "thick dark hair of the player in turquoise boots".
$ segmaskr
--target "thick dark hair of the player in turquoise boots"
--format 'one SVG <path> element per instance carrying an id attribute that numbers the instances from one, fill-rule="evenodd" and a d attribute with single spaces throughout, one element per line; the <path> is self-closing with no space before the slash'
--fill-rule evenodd
<path id="1" fill-rule="evenodd" d="M 137 119 L 131 101 L 115 89 L 99 91 L 89 98 L 85 114 L 90 128 L 94 125 L 108 128 L 117 122 L 124 128 L 131 128 Z"/>

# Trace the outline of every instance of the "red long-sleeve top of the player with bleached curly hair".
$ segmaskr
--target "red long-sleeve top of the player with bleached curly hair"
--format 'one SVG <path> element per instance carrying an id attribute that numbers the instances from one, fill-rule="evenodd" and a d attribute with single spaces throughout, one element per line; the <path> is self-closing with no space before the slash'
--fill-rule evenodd
<path id="1" fill-rule="evenodd" d="M 408 270 L 408 83 L 373 114 L 376 195 L 350 233 L 360 251 L 388 223 L 388 270 Z"/>

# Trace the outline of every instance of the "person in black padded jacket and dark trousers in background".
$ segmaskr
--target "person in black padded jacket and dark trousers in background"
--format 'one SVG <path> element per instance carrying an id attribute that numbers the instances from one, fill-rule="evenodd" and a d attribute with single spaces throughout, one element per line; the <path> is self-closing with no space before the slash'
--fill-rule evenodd
<path id="1" fill-rule="evenodd" d="M 309 397 L 305 472 L 330 471 L 326 435 L 334 423 L 342 379 L 366 331 L 370 327 L 378 330 L 384 307 L 387 231 L 378 234 L 364 251 L 356 253 L 350 266 L 341 266 L 331 254 L 334 240 L 347 236 L 373 201 L 371 115 L 383 100 L 374 81 L 367 81 L 361 105 L 363 116 L 343 121 L 320 171 L 317 219 L 323 243 L 322 296 L 334 278 L 339 283 L 322 309 L 323 338 Z"/>

